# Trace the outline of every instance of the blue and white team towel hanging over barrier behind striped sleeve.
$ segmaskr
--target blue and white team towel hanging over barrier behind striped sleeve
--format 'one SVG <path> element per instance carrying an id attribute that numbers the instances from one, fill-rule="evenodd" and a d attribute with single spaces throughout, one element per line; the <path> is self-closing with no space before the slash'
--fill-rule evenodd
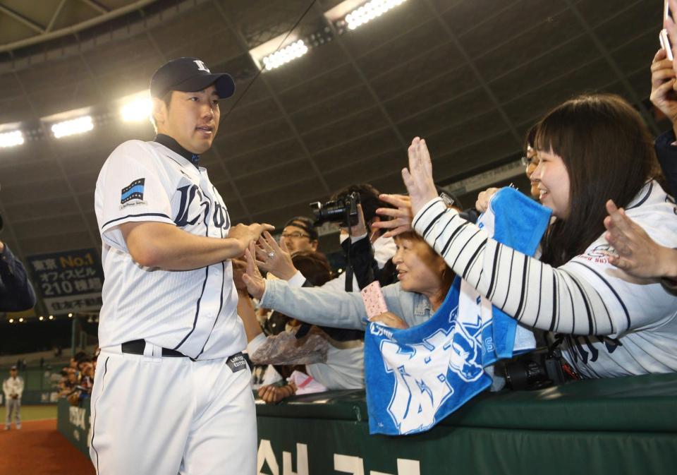
<path id="1" fill-rule="evenodd" d="M 478 226 L 533 255 L 550 214 L 513 188 L 502 188 Z M 365 332 L 370 433 L 427 431 L 492 385 L 487 366 L 534 346 L 528 330 L 458 277 L 427 322 L 405 330 L 370 323 Z"/>

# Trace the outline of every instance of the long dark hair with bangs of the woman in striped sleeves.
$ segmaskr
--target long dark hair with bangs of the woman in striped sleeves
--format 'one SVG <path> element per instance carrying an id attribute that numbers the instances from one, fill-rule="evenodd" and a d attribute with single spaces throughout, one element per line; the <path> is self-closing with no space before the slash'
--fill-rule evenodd
<path id="1" fill-rule="evenodd" d="M 607 200 L 626 207 L 661 175 L 649 129 L 617 95 L 582 95 L 555 107 L 537 126 L 535 148 L 559 155 L 569 176 L 567 218 L 542 241 L 541 260 L 554 266 L 602 235 Z"/>

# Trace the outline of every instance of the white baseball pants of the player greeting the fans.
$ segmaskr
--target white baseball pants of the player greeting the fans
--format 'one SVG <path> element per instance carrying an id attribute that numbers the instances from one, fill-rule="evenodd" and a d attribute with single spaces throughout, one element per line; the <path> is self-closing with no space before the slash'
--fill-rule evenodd
<path id="1" fill-rule="evenodd" d="M 254 475 L 248 366 L 102 350 L 90 456 L 99 475 Z"/>

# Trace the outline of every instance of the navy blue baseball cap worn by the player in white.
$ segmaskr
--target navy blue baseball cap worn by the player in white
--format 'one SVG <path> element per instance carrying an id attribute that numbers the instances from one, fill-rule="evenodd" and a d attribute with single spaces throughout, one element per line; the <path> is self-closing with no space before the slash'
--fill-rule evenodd
<path id="1" fill-rule="evenodd" d="M 212 74 L 205 62 L 197 58 L 172 59 L 153 74 L 150 96 L 163 97 L 169 91 L 201 91 L 212 84 L 219 99 L 231 97 L 235 92 L 235 81 L 229 74 Z"/>

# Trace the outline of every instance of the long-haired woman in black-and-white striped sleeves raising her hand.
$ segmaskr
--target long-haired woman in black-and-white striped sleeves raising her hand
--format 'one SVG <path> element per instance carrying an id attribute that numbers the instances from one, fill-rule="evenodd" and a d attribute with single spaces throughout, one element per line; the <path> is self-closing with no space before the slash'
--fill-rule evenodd
<path id="1" fill-rule="evenodd" d="M 540 161 L 532 179 L 556 217 L 540 260 L 489 239 L 446 208 L 419 138 L 402 171 L 413 228 L 495 306 L 523 325 L 570 335 L 563 353 L 581 375 L 677 371 L 677 297 L 655 279 L 611 265 L 613 248 L 604 239 L 611 199 L 652 239 L 677 247 L 677 209 L 653 180 L 657 160 L 639 114 L 617 96 L 578 97 L 539 122 L 535 145 Z"/>

